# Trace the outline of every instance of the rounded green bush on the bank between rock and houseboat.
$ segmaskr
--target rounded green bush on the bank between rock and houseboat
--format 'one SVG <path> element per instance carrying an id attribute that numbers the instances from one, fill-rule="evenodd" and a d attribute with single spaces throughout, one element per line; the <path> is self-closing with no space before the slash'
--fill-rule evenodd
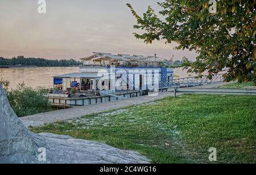
<path id="1" fill-rule="evenodd" d="M 7 94 L 10 105 L 18 117 L 51 110 L 51 103 L 45 96 L 47 91 L 41 87 L 34 90 L 22 83 L 17 86 L 16 90 L 11 90 Z"/>

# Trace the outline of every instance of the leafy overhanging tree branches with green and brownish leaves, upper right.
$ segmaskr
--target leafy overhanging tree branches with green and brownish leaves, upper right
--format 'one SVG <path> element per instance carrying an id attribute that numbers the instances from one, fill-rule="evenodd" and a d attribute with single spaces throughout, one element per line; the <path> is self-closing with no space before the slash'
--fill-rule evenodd
<path id="1" fill-rule="evenodd" d="M 209 2 L 213 2 L 209 3 Z M 188 72 L 209 77 L 227 69 L 225 81 L 254 81 L 256 84 L 256 1 L 166 0 L 158 3 L 163 10 L 156 15 L 149 6 L 139 16 L 130 4 L 143 34 L 134 34 L 146 43 L 153 40 L 175 41 L 176 49 L 195 50 L 196 61 L 185 62 Z M 216 5 L 217 11 L 210 8 Z"/>

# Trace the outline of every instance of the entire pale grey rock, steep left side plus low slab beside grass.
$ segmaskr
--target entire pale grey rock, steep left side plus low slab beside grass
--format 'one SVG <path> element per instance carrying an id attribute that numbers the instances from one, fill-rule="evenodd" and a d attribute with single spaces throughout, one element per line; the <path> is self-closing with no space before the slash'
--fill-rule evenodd
<path id="1" fill-rule="evenodd" d="M 46 161 L 39 161 L 39 148 Z M 96 141 L 70 136 L 34 134 L 23 126 L 0 84 L 0 163 L 148 163 L 134 151 L 123 151 Z"/>

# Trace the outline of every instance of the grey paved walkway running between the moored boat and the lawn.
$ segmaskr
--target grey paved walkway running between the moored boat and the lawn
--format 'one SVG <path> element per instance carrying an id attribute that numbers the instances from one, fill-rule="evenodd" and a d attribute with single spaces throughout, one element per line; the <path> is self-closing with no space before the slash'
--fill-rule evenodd
<path id="1" fill-rule="evenodd" d="M 228 83 L 218 83 L 212 84 L 209 86 L 200 86 L 200 87 L 218 87 Z M 177 94 L 180 95 L 180 94 Z M 174 93 L 159 93 L 157 96 L 142 96 L 142 97 L 134 97 L 119 101 L 100 103 L 96 105 L 90 106 L 76 106 L 71 109 L 57 110 L 51 111 L 48 113 L 35 114 L 30 116 L 24 116 L 20 118 L 24 124 L 24 126 L 43 126 L 44 124 L 49 124 L 53 122 L 69 120 L 79 118 L 84 115 L 94 114 L 94 113 L 102 113 L 108 110 L 120 109 L 123 107 L 131 106 L 131 105 L 141 105 L 142 103 L 148 103 L 152 101 L 156 101 L 158 99 L 162 99 L 165 97 L 174 96 Z"/>

